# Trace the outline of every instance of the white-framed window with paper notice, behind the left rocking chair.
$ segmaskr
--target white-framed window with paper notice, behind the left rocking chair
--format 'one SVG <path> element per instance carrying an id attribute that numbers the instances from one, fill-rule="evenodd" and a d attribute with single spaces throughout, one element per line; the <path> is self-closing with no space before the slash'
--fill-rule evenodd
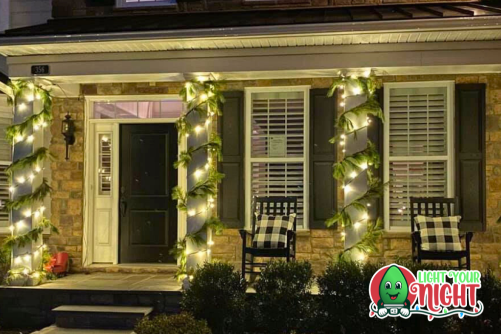
<path id="1" fill-rule="evenodd" d="M 309 87 L 251 88 L 245 94 L 246 217 L 252 217 L 254 196 L 294 196 L 298 228 L 308 228 Z"/>

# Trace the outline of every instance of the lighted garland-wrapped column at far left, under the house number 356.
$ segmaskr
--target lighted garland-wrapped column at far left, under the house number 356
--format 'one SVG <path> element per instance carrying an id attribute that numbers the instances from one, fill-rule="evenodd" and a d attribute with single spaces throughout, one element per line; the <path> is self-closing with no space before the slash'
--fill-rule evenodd
<path id="1" fill-rule="evenodd" d="M 11 199 L 2 203 L 10 212 L 11 237 L 4 247 L 12 251 L 8 282 L 12 285 L 36 285 L 46 276 L 43 268 L 45 229 L 57 229 L 45 217 L 44 199 L 51 193 L 43 177 L 44 161 L 51 157 L 44 147 L 44 131 L 52 121 L 50 92 L 31 81 L 10 83 L 14 124 L 7 128 L 13 143 L 13 163 L 7 168 Z"/>

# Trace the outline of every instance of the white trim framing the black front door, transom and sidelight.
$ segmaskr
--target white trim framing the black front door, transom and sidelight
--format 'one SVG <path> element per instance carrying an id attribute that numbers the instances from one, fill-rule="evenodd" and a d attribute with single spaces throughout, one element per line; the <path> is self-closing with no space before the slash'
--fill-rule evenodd
<path id="1" fill-rule="evenodd" d="M 95 163 L 94 147 L 96 145 L 95 139 L 95 125 L 110 125 L 113 128 L 113 133 L 119 135 L 120 124 L 161 124 L 161 123 L 175 123 L 177 118 L 157 118 L 157 119 L 92 119 L 90 115 L 94 113 L 94 103 L 95 102 L 117 102 L 117 101 L 160 101 L 160 100 L 179 100 L 178 95 L 164 94 L 164 95 L 120 95 L 120 96 L 86 96 L 85 97 L 85 109 L 84 109 L 84 210 L 83 210 L 83 244 L 82 244 L 82 265 L 84 267 L 90 266 L 94 263 L 94 186 L 95 178 L 94 171 L 92 167 Z M 112 143 L 113 147 L 113 159 L 115 161 L 112 164 L 113 175 L 112 178 L 112 200 L 116 201 L 117 205 L 112 208 L 113 221 L 111 238 L 114 242 L 113 247 L 113 258 L 111 264 L 118 264 L 119 258 L 119 224 L 118 224 L 118 191 L 119 191 L 119 141 L 114 140 Z M 186 150 L 187 141 L 186 138 L 181 138 L 178 144 L 178 152 Z M 178 168 L 178 186 L 181 187 L 183 191 L 187 188 L 187 175 L 185 168 Z M 186 213 L 184 211 L 177 211 L 177 239 L 184 237 L 186 234 Z M 179 259 L 178 263 L 179 265 Z"/>

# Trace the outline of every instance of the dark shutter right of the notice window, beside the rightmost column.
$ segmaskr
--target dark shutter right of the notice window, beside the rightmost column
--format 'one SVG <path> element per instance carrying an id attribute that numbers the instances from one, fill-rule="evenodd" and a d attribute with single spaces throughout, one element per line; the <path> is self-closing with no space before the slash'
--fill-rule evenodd
<path id="1" fill-rule="evenodd" d="M 336 94 L 327 89 L 310 90 L 310 228 L 322 229 L 337 207 L 337 184 L 332 177 L 337 145 L 335 136 Z"/>

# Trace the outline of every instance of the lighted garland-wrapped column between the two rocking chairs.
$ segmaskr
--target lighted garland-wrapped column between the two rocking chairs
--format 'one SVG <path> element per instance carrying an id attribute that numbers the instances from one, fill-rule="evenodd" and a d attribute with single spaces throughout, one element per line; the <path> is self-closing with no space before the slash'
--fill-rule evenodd
<path id="1" fill-rule="evenodd" d="M 374 176 L 380 157 L 367 131 L 374 118 L 383 120 L 381 106 L 375 97 L 378 84 L 373 73 L 347 76 L 342 73 L 329 90 L 329 96 L 338 93 L 342 113 L 336 121 L 337 135 L 331 143 L 341 147 L 343 158 L 334 164 L 333 177 L 342 182 L 343 206 L 326 221 L 341 229 L 345 249 L 341 256 L 364 260 L 377 249 L 383 221 L 371 217 L 373 199 L 382 195 L 383 184 Z"/>

